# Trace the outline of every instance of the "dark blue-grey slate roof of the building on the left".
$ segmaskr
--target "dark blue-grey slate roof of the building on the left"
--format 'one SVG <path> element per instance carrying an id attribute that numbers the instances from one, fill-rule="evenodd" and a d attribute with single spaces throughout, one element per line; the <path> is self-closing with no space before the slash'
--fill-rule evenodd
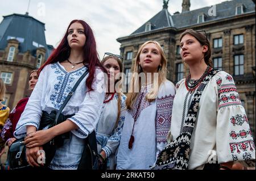
<path id="1" fill-rule="evenodd" d="M 0 49 L 5 49 L 9 39 L 19 41 L 19 52 L 30 50 L 35 53 L 36 48 L 47 50 L 44 23 L 28 14 L 12 14 L 3 16 L 0 23 Z M 46 57 L 49 54 L 46 51 Z"/>

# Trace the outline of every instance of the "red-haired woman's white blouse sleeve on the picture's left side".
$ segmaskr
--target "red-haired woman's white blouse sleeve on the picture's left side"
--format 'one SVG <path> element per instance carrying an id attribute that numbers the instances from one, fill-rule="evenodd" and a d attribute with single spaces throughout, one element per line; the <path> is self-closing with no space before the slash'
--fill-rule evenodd
<path id="1" fill-rule="evenodd" d="M 27 132 L 27 125 L 33 125 L 34 127 L 36 127 L 36 129 L 38 129 L 39 127 L 42 116 L 41 102 L 45 96 L 44 94 L 46 94 L 46 91 L 43 90 L 47 82 L 47 68 L 48 66 L 46 66 L 41 71 L 38 82 L 36 83 L 36 86 L 31 93 L 30 99 L 28 99 L 26 108 L 24 109 L 16 125 L 16 129 L 14 131 L 14 136 L 16 138 L 24 137 Z"/>

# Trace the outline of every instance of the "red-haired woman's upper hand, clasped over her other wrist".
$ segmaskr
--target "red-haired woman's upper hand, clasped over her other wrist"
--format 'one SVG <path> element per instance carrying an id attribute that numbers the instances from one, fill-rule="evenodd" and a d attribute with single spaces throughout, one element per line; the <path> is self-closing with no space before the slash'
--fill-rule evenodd
<path id="1" fill-rule="evenodd" d="M 42 146 L 46 144 L 48 141 L 52 140 L 53 137 L 54 136 L 51 132 L 51 129 L 40 130 L 27 136 L 25 138 L 24 144 L 26 144 L 26 148 Z"/>

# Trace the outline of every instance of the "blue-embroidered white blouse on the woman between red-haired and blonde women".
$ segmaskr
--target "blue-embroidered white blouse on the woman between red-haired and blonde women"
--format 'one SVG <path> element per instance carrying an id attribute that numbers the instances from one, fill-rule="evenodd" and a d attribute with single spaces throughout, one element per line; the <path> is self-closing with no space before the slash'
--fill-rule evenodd
<path id="1" fill-rule="evenodd" d="M 111 95 L 110 95 L 111 96 Z M 107 97 L 109 99 L 109 96 Z M 106 158 L 110 159 L 110 169 L 114 169 L 115 165 L 115 151 L 118 149 L 119 142 L 121 139 L 123 123 L 125 121 L 125 106 L 126 96 L 121 95 L 121 113 L 118 119 L 117 127 L 115 127 L 115 122 L 117 121 L 118 114 L 118 93 L 115 93 L 114 98 L 110 102 L 104 103 L 103 110 L 96 127 L 97 141 L 98 141 L 98 151 L 104 150 L 106 153 Z"/>

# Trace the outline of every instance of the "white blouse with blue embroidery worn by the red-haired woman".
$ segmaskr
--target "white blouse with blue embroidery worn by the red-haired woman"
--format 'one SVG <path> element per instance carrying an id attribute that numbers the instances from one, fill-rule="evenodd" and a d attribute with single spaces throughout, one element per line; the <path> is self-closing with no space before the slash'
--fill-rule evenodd
<path id="1" fill-rule="evenodd" d="M 24 137 L 27 125 L 34 125 L 38 129 L 42 111 L 50 113 L 52 110 L 59 110 L 68 92 L 86 69 L 83 66 L 67 72 L 59 62 L 47 65 L 40 73 L 35 89 L 16 125 L 14 136 Z M 84 138 L 96 128 L 100 118 L 105 97 L 104 76 L 101 73 L 102 71 L 97 68 L 96 78 L 92 84 L 93 91 L 89 93 L 86 92 L 88 90 L 85 86 L 88 77 L 86 75 L 62 111 L 64 115 L 75 113 L 69 120 L 79 128 L 72 130 L 71 137 L 64 140 L 64 145 L 56 150 L 55 157 L 49 165 L 51 169 L 77 169 L 84 147 Z"/>

